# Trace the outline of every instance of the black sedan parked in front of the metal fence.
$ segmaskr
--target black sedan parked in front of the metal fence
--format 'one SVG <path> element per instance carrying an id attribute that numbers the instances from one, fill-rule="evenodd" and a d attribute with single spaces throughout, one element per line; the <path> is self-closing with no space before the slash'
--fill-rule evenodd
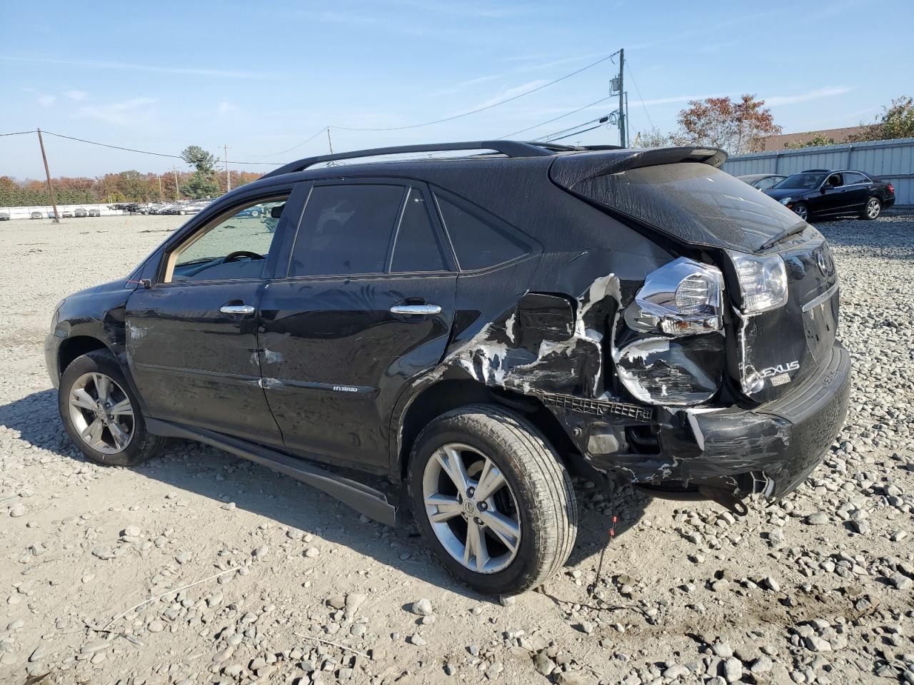
<path id="1" fill-rule="evenodd" d="M 859 171 L 809 169 L 764 191 L 803 220 L 856 214 L 875 219 L 895 204 L 895 186 Z"/>

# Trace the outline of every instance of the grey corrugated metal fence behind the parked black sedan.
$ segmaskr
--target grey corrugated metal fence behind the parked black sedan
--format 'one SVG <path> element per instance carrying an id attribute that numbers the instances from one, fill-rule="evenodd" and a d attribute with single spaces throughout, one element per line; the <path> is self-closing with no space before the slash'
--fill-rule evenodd
<path id="1" fill-rule="evenodd" d="M 914 138 L 741 154 L 730 157 L 723 169 L 734 176 L 796 174 L 803 169 L 856 169 L 894 185 L 896 205 L 914 205 Z"/>

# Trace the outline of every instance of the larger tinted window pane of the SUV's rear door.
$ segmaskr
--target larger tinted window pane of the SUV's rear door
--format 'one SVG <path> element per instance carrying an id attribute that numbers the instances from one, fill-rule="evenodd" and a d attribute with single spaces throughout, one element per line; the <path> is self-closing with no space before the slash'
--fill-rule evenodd
<path id="1" fill-rule="evenodd" d="M 384 273 L 401 185 L 316 185 L 304 208 L 290 276 Z"/>

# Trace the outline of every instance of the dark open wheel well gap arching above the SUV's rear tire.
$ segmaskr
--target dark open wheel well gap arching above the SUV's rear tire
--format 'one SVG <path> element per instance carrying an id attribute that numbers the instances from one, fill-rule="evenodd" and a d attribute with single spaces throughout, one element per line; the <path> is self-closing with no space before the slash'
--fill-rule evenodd
<path id="1" fill-rule="evenodd" d="M 460 406 L 498 404 L 522 414 L 551 443 L 563 462 L 577 453 L 568 433 L 542 402 L 530 395 L 490 388 L 471 380 L 445 380 L 423 390 L 413 398 L 403 417 L 399 450 L 399 476 L 406 477 L 413 443 L 436 417 Z"/>

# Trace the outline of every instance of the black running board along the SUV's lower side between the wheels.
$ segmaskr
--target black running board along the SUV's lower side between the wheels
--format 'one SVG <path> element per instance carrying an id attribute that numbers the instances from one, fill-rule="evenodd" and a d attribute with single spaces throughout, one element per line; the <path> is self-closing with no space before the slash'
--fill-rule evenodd
<path id="1" fill-rule="evenodd" d="M 182 426 L 155 418 L 147 418 L 146 427 L 157 436 L 180 437 L 223 449 L 236 457 L 248 459 L 255 464 L 301 480 L 318 490 L 324 490 L 328 495 L 349 505 L 359 513 L 365 514 L 369 519 L 388 526 L 397 525 L 397 508 L 388 502 L 387 496 L 380 490 L 369 488 L 356 480 L 337 476 L 331 471 L 321 469 L 302 459 L 289 457 L 282 452 L 264 448 L 237 437 L 218 435 L 218 433 L 203 428 Z"/>

